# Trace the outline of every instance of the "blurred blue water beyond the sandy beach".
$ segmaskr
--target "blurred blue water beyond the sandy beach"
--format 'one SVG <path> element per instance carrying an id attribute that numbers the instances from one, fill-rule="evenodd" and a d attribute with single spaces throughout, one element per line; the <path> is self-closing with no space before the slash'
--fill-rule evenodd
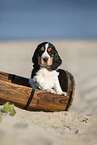
<path id="1" fill-rule="evenodd" d="M 0 40 L 96 39 L 97 0 L 0 0 Z"/>

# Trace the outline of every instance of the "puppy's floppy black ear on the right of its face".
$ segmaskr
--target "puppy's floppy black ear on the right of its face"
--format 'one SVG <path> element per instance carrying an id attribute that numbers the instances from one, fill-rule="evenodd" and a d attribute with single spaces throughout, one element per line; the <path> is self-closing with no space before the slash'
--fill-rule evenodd
<path id="1" fill-rule="evenodd" d="M 62 64 L 62 60 L 57 52 L 57 50 L 54 50 L 54 56 L 53 56 L 53 64 L 51 65 L 52 70 L 56 70 L 58 66 Z"/>

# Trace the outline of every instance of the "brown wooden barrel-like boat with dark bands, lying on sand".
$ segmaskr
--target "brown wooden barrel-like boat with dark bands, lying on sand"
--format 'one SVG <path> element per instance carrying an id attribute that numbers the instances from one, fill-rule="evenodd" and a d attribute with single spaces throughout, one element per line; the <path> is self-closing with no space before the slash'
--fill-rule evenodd
<path id="1" fill-rule="evenodd" d="M 67 96 L 33 89 L 29 79 L 0 72 L 0 105 L 6 102 L 29 111 L 68 111 L 75 92 L 74 77 L 65 71 Z"/>

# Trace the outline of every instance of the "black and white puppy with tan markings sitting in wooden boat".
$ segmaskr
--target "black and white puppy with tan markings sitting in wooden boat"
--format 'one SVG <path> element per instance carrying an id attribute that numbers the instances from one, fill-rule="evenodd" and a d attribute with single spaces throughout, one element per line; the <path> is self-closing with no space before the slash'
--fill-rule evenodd
<path id="1" fill-rule="evenodd" d="M 67 95 L 61 85 L 60 70 L 56 70 L 62 60 L 53 44 L 49 42 L 39 44 L 32 57 L 32 62 L 34 65 L 29 79 L 32 88 Z"/>

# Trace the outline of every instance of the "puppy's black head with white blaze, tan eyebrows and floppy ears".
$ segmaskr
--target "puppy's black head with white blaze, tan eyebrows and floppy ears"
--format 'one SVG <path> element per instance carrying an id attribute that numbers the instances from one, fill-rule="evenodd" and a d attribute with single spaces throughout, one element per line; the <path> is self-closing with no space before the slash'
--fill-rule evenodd
<path id="1" fill-rule="evenodd" d="M 53 44 L 43 42 L 37 46 L 32 62 L 34 68 L 41 66 L 55 70 L 62 63 L 62 60 Z"/>

